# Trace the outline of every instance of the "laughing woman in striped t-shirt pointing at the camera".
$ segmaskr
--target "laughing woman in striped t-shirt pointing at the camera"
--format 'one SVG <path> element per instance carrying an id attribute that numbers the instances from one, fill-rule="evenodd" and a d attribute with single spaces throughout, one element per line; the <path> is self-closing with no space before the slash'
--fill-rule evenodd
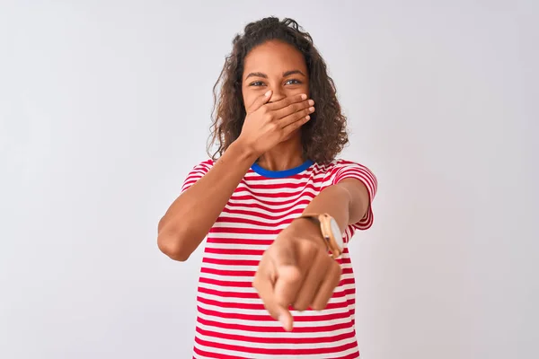
<path id="1" fill-rule="evenodd" d="M 158 228 L 180 261 L 208 235 L 193 355 L 357 358 L 346 243 L 373 222 L 376 178 L 335 159 L 346 118 L 297 22 L 252 22 L 233 44 L 214 88 L 217 151 Z"/>

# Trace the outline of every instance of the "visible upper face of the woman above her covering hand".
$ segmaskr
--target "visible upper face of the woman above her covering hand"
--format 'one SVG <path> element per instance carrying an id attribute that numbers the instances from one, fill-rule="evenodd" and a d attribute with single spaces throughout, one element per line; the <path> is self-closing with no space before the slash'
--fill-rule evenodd
<path id="1" fill-rule="evenodd" d="M 309 96 L 309 77 L 305 58 L 287 43 L 271 40 L 253 48 L 243 66 L 243 103 L 247 108 L 269 90 L 270 102 L 290 95 Z"/>

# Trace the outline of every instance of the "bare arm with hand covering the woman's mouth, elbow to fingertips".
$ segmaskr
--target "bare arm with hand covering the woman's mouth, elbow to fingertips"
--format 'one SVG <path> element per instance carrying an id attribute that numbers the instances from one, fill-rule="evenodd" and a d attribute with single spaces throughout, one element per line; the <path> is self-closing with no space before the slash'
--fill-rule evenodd
<path id="1" fill-rule="evenodd" d="M 252 163 L 309 120 L 312 100 L 305 94 L 266 103 L 270 95 L 271 91 L 266 92 L 252 103 L 238 139 L 159 221 L 157 245 L 170 258 L 187 260 L 216 223 Z"/>

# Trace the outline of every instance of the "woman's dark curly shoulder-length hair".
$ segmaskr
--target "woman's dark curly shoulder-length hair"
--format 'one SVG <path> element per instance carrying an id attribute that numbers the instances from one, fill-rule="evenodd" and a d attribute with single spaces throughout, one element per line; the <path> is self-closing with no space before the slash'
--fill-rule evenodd
<path id="1" fill-rule="evenodd" d="M 349 142 L 346 117 L 341 113 L 335 84 L 314 48 L 311 35 L 296 21 L 288 18 L 279 21 L 276 17 L 251 22 L 245 26 L 243 35 L 234 37 L 232 52 L 226 57 L 213 89 L 215 103 L 208 154 L 216 160 L 240 136 L 246 116 L 242 96 L 243 61 L 252 48 L 273 39 L 294 46 L 305 57 L 310 98 L 316 103 L 316 112 L 302 127 L 303 155 L 314 162 L 331 162 Z M 210 148 L 214 144 L 218 147 L 212 155 Z"/>

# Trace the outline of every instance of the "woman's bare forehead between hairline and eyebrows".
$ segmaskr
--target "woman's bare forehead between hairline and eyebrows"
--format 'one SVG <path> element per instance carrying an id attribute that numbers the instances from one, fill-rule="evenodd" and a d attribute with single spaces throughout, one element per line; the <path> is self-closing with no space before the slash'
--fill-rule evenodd
<path id="1" fill-rule="evenodd" d="M 282 74 L 290 70 L 301 70 L 306 74 L 305 58 L 292 45 L 271 40 L 247 54 L 243 66 L 243 75 L 261 72 L 268 75 Z"/>

